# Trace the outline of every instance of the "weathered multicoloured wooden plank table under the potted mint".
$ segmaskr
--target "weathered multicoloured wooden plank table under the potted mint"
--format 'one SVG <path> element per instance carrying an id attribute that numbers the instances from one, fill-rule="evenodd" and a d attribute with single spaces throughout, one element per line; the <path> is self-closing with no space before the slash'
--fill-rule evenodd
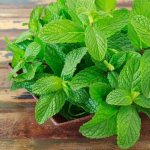
<path id="1" fill-rule="evenodd" d="M 27 2 L 28 1 L 28 2 Z M 26 30 L 31 8 L 49 0 L 4 0 L 0 2 L 0 150 L 115 150 L 115 138 L 88 140 L 72 130 L 53 126 L 50 121 L 38 126 L 34 119 L 35 100 L 25 91 L 9 90 L 7 63 L 11 53 L 5 51 L 4 36 L 14 39 Z M 150 120 L 142 120 L 142 135 L 134 150 L 150 150 Z"/>

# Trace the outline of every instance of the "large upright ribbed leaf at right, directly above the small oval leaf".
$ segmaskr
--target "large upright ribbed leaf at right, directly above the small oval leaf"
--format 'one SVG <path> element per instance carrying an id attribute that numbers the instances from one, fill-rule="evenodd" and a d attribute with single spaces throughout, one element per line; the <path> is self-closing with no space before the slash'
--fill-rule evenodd
<path id="1" fill-rule="evenodd" d="M 119 88 L 132 91 L 140 91 L 140 55 L 133 55 L 122 69 L 119 76 Z"/>

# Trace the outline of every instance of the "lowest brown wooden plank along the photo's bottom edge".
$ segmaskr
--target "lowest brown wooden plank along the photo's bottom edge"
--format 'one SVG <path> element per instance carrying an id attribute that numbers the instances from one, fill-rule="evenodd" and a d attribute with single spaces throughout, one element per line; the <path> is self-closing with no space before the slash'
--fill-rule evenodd
<path id="1" fill-rule="evenodd" d="M 104 140 L 2 139 L 2 150 L 119 150 L 115 142 Z M 149 150 L 149 141 L 141 141 L 130 150 Z"/>

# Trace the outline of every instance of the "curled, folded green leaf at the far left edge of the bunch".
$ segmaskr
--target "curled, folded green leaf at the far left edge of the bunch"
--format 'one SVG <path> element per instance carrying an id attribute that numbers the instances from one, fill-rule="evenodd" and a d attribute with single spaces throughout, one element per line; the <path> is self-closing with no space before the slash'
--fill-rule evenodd
<path id="1" fill-rule="evenodd" d="M 23 67 L 24 73 L 19 74 L 14 80 L 16 82 L 32 80 L 35 77 L 35 73 L 40 65 L 41 65 L 40 62 L 34 62 L 32 64 L 25 64 L 25 66 Z"/>

